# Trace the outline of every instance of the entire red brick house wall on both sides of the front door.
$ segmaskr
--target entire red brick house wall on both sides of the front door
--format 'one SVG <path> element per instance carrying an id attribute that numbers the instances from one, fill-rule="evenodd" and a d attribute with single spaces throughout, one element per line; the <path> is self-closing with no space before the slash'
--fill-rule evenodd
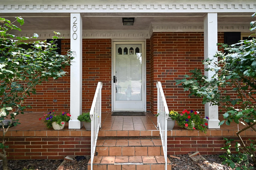
<path id="1" fill-rule="evenodd" d="M 224 33 L 218 34 L 218 41 L 224 42 Z M 156 113 L 156 82 L 161 81 L 169 110 L 181 111 L 193 108 L 204 112 L 201 99 L 187 97 L 182 86 L 176 86 L 176 79 L 188 74 L 191 69 L 203 69 L 203 33 L 153 33 L 146 41 L 147 111 Z M 61 48 L 70 49 L 70 40 L 62 40 Z M 70 72 L 70 68 L 65 68 Z M 98 81 L 103 82 L 102 111 L 111 111 L 111 39 L 83 39 L 82 111 L 88 112 L 93 101 Z M 26 101 L 32 108 L 27 112 L 59 112 L 70 110 L 70 75 L 36 87 L 37 95 Z M 53 102 L 57 99 L 58 102 Z"/>

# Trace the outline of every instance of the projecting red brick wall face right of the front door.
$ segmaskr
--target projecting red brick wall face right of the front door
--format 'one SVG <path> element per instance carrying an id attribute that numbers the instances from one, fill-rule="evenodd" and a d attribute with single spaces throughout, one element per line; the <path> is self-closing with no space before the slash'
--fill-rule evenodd
<path id="1" fill-rule="evenodd" d="M 224 33 L 219 33 L 219 42 L 224 41 Z M 176 79 L 184 78 L 191 69 L 204 69 L 203 33 L 153 33 L 150 39 L 151 64 L 151 112 L 157 112 L 156 82 L 161 81 L 169 110 L 195 109 L 204 113 L 200 98 L 184 92 L 176 85 Z"/>

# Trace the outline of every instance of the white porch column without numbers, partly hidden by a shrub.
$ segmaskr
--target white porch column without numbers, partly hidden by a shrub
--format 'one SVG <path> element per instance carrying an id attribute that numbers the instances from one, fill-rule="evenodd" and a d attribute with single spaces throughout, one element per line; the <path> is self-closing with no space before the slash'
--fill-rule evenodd
<path id="1" fill-rule="evenodd" d="M 217 58 L 213 58 L 216 51 L 218 41 L 218 29 L 217 29 L 217 13 L 207 13 L 204 16 L 204 59 L 212 58 L 214 62 L 217 62 Z M 210 68 L 212 66 L 205 65 L 204 68 Z M 205 71 L 204 75 L 211 79 L 214 75 L 212 71 Z M 210 103 L 204 105 L 205 116 L 209 117 L 207 121 L 207 128 L 220 128 L 218 106 L 210 106 Z"/>

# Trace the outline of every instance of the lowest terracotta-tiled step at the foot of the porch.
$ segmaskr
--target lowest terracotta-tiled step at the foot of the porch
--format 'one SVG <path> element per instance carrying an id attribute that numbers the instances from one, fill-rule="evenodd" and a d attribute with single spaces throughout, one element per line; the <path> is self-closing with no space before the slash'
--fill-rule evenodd
<path id="1" fill-rule="evenodd" d="M 88 170 L 91 168 L 91 159 Z M 95 156 L 94 170 L 164 170 L 163 156 Z M 171 162 L 167 160 L 167 170 L 171 170 Z"/>

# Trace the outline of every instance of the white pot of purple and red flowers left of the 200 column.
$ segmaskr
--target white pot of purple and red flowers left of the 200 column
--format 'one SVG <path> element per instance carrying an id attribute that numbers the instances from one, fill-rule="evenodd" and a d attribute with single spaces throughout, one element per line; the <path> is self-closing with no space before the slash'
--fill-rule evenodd
<path id="1" fill-rule="evenodd" d="M 52 112 L 46 113 L 39 120 L 43 120 L 48 129 L 54 128 L 54 130 L 61 130 L 64 128 L 65 123 L 69 122 L 70 117 L 71 115 L 69 113 L 62 112 L 56 114 L 55 110 L 53 110 Z"/>

